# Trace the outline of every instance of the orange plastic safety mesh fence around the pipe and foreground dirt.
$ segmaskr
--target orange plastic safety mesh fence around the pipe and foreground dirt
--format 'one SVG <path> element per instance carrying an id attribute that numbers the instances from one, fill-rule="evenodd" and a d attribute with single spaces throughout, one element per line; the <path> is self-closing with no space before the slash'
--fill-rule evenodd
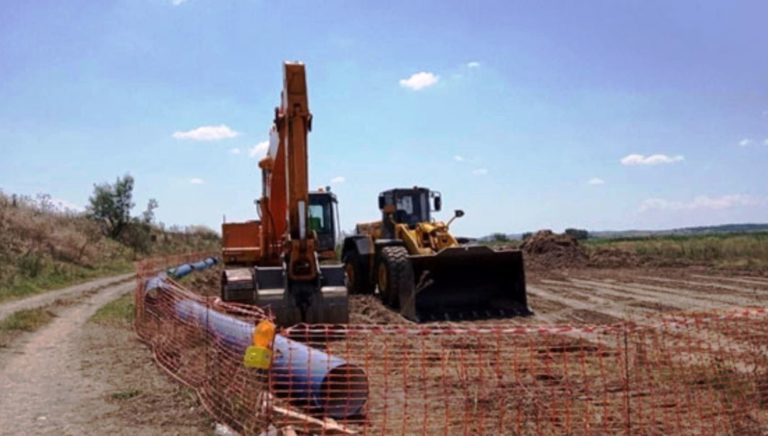
<path id="1" fill-rule="evenodd" d="M 294 326 L 268 371 L 243 365 L 263 310 L 172 281 L 147 291 L 144 277 L 137 315 L 160 365 L 246 434 L 768 432 L 762 308 L 613 325 Z"/>

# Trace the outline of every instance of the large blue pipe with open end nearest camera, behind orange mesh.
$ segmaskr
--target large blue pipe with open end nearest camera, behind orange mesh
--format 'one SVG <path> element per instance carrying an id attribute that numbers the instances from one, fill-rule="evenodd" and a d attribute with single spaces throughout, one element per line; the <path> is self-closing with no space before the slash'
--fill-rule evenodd
<path id="1" fill-rule="evenodd" d="M 244 354 L 251 345 L 254 326 L 191 300 L 175 305 L 176 314 L 216 335 L 224 346 Z M 309 403 L 332 418 L 359 415 L 368 399 L 365 372 L 336 356 L 282 335 L 273 344 L 272 384 L 278 395 Z"/>

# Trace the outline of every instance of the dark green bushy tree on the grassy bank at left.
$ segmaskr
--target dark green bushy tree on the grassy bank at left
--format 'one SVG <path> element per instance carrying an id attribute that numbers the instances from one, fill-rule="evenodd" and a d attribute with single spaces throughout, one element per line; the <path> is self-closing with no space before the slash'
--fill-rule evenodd
<path id="1" fill-rule="evenodd" d="M 131 222 L 133 209 L 133 177 L 118 177 L 114 184 L 93 185 L 93 195 L 88 199 L 88 216 L 98 221 L 102 231 L 117 239 Z"/>

